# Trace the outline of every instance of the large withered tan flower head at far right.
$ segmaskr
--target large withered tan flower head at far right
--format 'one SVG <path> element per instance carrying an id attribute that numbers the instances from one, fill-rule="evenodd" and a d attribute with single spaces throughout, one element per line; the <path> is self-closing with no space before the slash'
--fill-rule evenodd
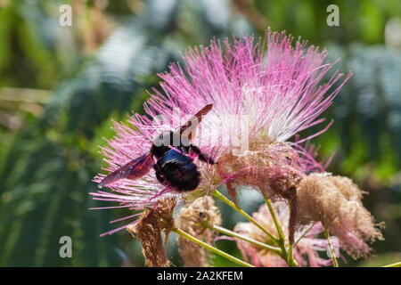
<path id="1" fill-rule="evenodd" d="M 362 195 L 351 179 L 328 174 L 312 174 L 298 187 L 299 223 L 320 221 L 340 240 L 341 248 L 354 258 L 368 256 L 368 242 L 382 240 L 371 213 L 362 204 Z"/>

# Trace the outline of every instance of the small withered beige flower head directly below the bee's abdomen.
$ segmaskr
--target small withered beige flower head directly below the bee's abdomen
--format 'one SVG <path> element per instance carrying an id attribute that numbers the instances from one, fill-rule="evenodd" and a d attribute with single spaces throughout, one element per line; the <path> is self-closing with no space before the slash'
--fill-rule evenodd
<path id="1" fill-rule="evenodd" d="M 209 196 L 195 199 L 192 204 L 181 209 L 176 216 L 176 225 L 184 232 L 209 244 L 213 241 L 213 232 L 206 224 L 221 224 L 221 216 L 215 201 Z M 185 266 L 206 267 L 211 264 L 209 252 L 191 240 L 177 235 L 178 250 Z"/>

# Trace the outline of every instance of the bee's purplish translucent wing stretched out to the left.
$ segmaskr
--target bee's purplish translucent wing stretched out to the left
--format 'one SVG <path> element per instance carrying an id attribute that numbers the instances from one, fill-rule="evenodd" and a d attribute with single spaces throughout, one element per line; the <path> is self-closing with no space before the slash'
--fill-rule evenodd
<path id="1" fill-rule="evenodd" d="M 119 169 L 104 177 L 98 185 L 99 188 L 122 178 L 135 180 L 141 178 L 143 175 L 147 175 L 154 164 L 152 156 L 151 151 L 148 151 L 142 156 L 129 161 L 125 166 L 119 167 Z"/>

